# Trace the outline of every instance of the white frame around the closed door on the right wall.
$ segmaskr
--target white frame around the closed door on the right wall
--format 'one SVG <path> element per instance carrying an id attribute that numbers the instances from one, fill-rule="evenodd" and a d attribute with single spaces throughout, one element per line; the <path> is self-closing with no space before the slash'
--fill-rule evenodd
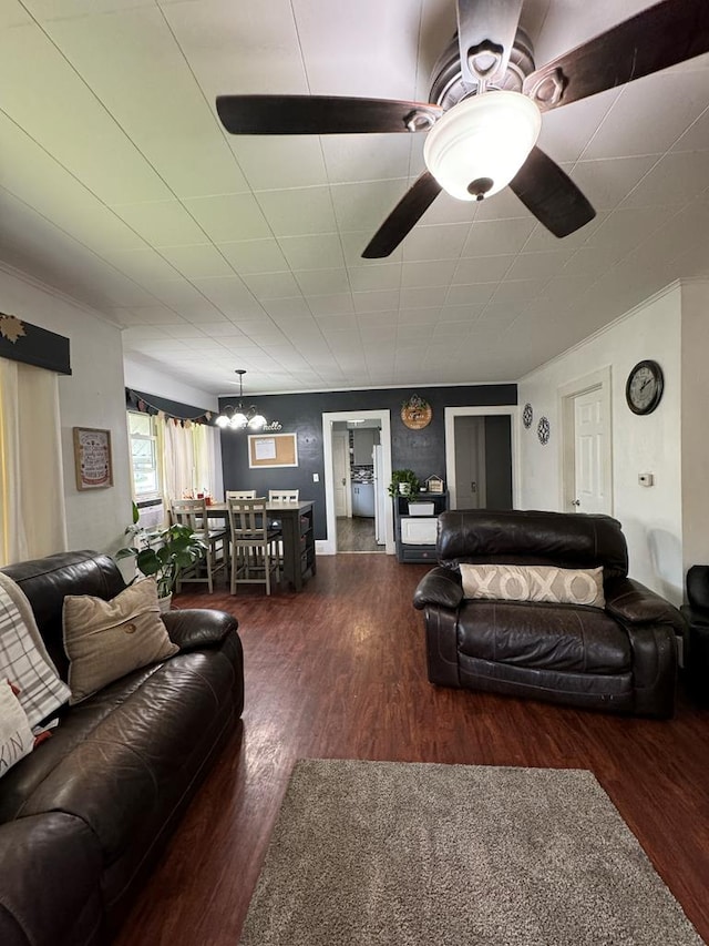
<path id="1" fill-rule="evenodd" d="M 561 446 L 559 458 L 559 509 L 562 512 L 574 512 L 576 507 L 572 506 L 572 499 L 576 498 L 576 419 L 574 400 L 582 394 L 599 389 L 604 403 L 604 417 L 606 418 L 607 447 L 603 457 L 604 484 L 608 495 L 608 516 L 613 516 L 613 415 L 610 401 L 610 365 L 584 375 L 573 382 L 562 385 L 557 389 L 558 417 L 561 418 Z"/>

